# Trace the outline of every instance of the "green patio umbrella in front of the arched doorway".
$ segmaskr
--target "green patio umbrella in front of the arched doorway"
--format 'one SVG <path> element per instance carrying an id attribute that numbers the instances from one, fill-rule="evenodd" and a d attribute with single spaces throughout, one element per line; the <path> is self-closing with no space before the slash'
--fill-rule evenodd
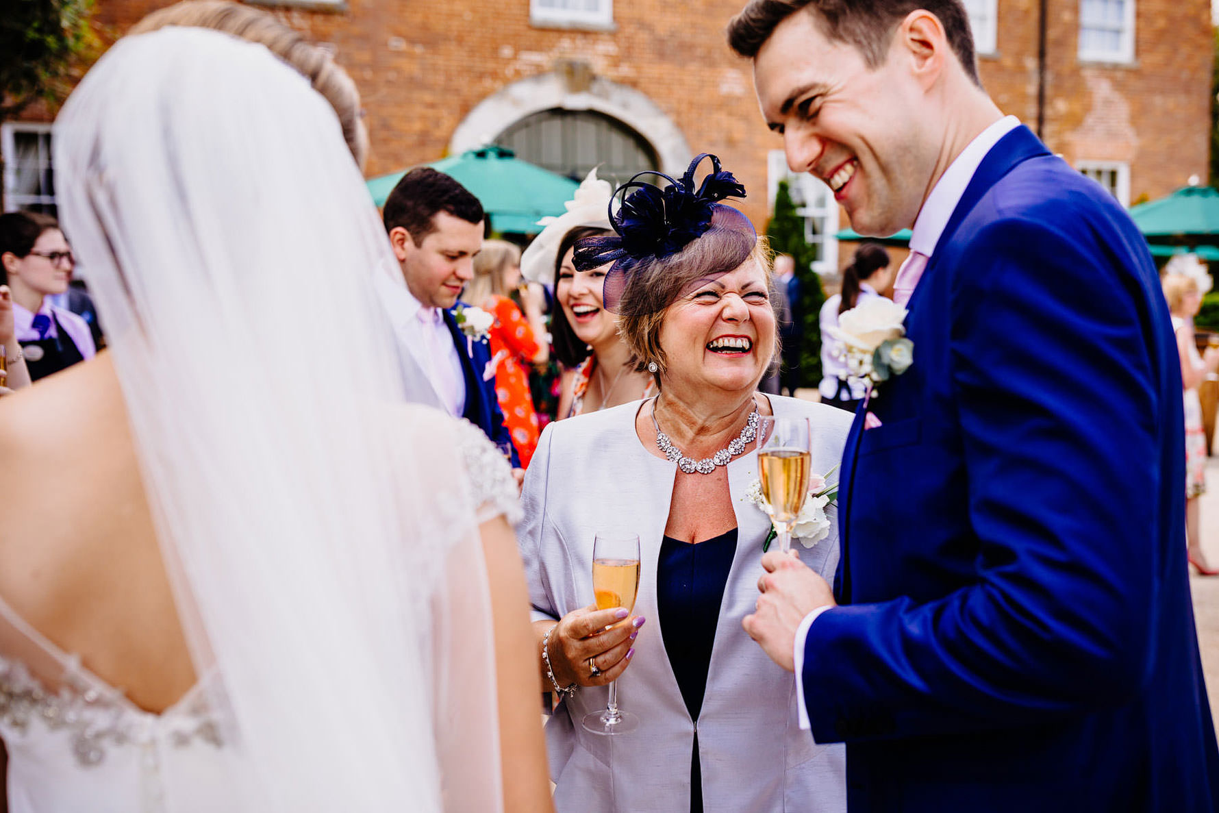
<path id="1" fill-rule="evenodd" d="M 557 217 L 563 204 L 575 194 L 579 184 L 570 178 L 522 161 L 502 146 L 483 146 L 458 156 L 427 165 L 452 176 L 468 189 L 491 218 L 491 230 L 501 234 L 538 234 L 542 217 Z M 384 206 L 389 193 L 406 171 L 373 178 L 368 182 L 377 206 Z"/>

